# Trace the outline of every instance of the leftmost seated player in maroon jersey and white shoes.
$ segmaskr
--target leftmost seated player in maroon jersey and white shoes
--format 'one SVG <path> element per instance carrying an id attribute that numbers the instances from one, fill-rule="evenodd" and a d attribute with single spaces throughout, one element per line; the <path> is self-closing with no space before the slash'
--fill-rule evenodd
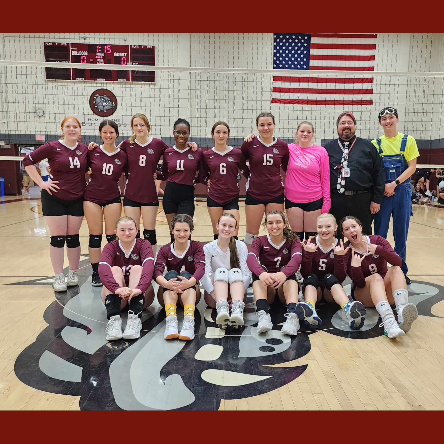
<path id="1" fill-rule="evenodd" d="M 142 330 L 142 310 L 154 300 L 151 285 L 154 270 L 153 249 L 146 239 L 136 239 L 135 220 L 123 216 L 115 224 L 118 240 L 103 247 L 99 262 L 103 282 L 102 301 L 109 319 L 108 341 L 137 339 Z M 129 304 L 128 321 L 122 335 L 120 313 Z"/>

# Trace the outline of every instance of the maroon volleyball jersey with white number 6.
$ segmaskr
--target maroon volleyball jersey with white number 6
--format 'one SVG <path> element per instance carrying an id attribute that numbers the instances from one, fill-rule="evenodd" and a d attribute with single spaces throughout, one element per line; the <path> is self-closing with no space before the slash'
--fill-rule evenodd
<path id="1" fill-rule="evenodd" d="M 203 153 L 203 160 L 206 179 L 210 180 L 208 197 L 221 205 L 238 197 L 238 170 L 247 179 L 250 174 L 242 151 L 230 147 L 229 150 L 220 153 L 213 147 Z"/>

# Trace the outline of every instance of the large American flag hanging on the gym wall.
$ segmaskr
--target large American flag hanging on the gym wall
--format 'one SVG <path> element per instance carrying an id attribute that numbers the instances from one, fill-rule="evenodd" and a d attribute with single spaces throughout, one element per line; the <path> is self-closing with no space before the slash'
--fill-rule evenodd
<path id="1" fill-rule="evenodd" d="M 274 34 L 273 68 L 374 71 L 376 40 L 377 34 Z M 271 103 L 372 105 L 372 95 L 373 77 L 274 75 Z"/>

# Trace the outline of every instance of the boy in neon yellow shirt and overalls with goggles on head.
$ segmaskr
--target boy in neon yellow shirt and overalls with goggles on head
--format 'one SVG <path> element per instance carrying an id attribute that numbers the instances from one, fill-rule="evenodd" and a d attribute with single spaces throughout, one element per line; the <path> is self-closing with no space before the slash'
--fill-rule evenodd
<path id="1" fill-rule="evenodd" d="M 393 107 L 381 110 L 378 120 L 384 128 L 384 135 L 372 140 L 382 158 L 385 172 L 384 197 L 381 209 L 374 216 L 375 234 L 387 238 L 390 216 L 393 217 L 393 237 L 397 254 L 402 259 L 401 269 L 407 284 L 407 264 L 405 252 L 408 224 L 412 214 L 412 186 L 410 176 L 416 171 L 416 158 L 419 156 L 416 140 L 396 130 L 398 112 Z"/>

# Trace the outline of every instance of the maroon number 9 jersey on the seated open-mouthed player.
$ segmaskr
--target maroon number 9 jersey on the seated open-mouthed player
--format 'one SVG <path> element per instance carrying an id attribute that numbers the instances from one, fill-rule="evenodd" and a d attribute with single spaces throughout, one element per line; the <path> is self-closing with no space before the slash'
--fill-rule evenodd
<path id="1" fill-rule="evenodd" d="M 365 277 L 370 276 L 370 274 L 379 273 L 384 278 L 387 273 L 387 262 L 391 265 L 402 265 L 400 256 L 392 249 L 392 246 L 386 239 L 381 236 L 363 236 L 363 238 L 370 244 L 377 245 L 374 254 L 369 254 L 362 259 L 360 267 L 352 267 L 352 255 L 350 252 L 347 263 L 347 274 L 353 283 L 361 288 L 365 287 Z M 349 245 L 349 242 L 346 243 Z M 368 251 L 362 252 L 355 249 L 355 253 L 360 256 Z"/>

